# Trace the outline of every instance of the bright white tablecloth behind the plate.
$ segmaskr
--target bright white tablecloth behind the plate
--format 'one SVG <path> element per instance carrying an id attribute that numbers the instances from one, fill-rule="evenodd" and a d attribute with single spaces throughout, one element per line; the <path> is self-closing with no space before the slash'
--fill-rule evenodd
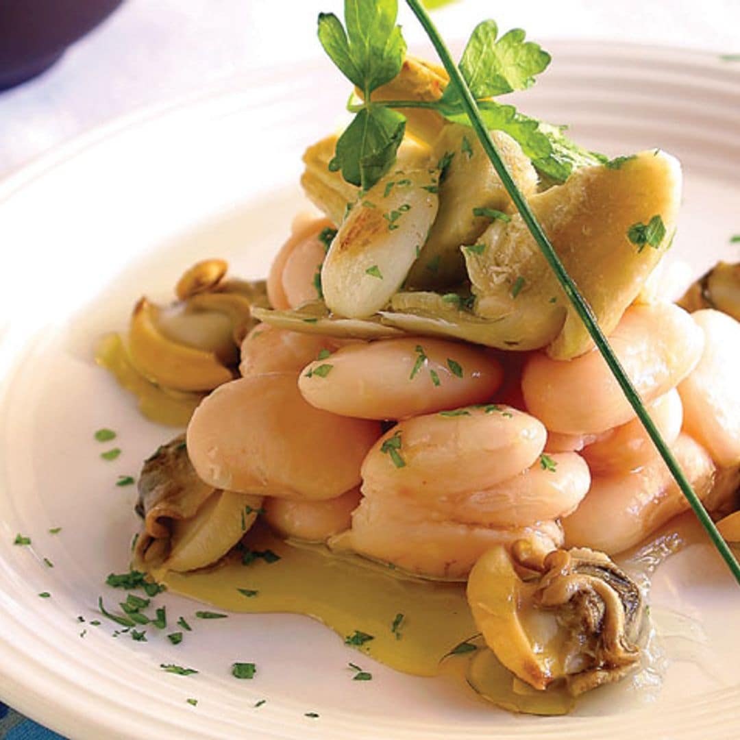
<path id="1" fill-rule="evenodd" d="M 403 5 L 403 0 L 400 3 Z M 36 80 L 0 93 L 0 176 L 55 144 L 216 78 L 323 54 L 320 10 L 340 0 L 127 0 Z M 740 53 L 740 0 L 462 0 L 435 13 L 446 38 L 493 17 L 529 38 L 602 38 Z M 423 34 L 402 9 L 410 43 Z M 740 63 L 737 64 L 740 74 Z"/>

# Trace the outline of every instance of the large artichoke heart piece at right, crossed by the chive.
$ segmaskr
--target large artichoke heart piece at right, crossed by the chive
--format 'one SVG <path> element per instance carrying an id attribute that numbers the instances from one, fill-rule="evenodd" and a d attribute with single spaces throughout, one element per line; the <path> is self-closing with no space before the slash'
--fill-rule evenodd
<path id="1" fill-rule="evenodd" d="M 679 163 L 660 151 L 625 158 L 619 166 L 576 169 L 565 184 L 529 199 L 605 334 L 670 244 L 680 199 Z M 478 316 L 501 320 L 529 312 L 532 321 L 520 322 L 522 341 L 531 343 L 527 333 L 536 332 L 556 360 L 591 349 L 588 331 L 520 215 L 492 223 L 480 242 L 480 249 L 462 250 Z M 565 306 L 565 323 L 559 306 Z"/>

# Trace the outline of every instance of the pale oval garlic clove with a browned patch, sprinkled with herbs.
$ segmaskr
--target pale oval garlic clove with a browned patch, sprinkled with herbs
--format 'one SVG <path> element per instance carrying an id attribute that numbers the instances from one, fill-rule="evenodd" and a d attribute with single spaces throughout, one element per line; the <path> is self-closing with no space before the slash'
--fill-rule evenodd
<path id="1" fill-rule="evenodd" d="M 349 318 L 382 309 L 406 279 L 437 215 L 436 169 L 397 169 L 351 209 L 321 269 L 326 306 Z"/>

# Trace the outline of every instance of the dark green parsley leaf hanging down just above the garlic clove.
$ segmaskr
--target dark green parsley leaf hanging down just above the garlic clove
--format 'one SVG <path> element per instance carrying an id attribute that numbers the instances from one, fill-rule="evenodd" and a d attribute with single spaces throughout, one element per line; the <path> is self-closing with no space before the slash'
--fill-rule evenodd
<path id="1" fill-rule="evenodd" d="M 363 108 L 337 141 L 329 169 L 340 169 L 347 182 L 369 190 L 391 168 L 405 130 L 406 118 L 398 111 Z"/>

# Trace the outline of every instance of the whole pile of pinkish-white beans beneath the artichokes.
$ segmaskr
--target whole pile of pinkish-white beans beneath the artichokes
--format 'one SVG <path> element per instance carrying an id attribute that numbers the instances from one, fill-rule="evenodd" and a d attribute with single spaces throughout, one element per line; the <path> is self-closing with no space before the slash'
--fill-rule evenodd
<path id="1" fill-rule="evenodd" d="M 326 226 L 298 223 L 277 255 L 275 308 L 315 299 Z M 740 464 L 740 323 L 636 304 L 609 339 L 707 497 L 717 472 Z M 189 457 L 209 485 L 265 496 L 287 536 L 460 578 L 517 539 L 617 554 L 687 508 L 596 350 L 557 361 L 260 324 L 240 371 L 195 411 Z M 382 421 L 396 423 L 383 433 Z"/>

